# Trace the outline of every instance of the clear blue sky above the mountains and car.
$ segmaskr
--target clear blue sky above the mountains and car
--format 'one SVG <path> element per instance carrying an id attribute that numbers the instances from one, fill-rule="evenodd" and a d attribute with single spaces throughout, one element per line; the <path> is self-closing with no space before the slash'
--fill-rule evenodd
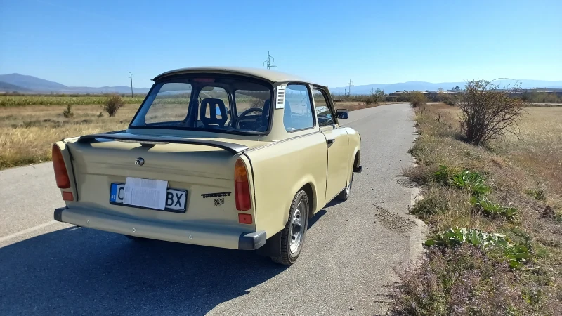
<path id="1" fill-rule="evenodd" d="M 562 1 L 0 0 L 0 74 L 148 87 L 180 67 L 262 67 L 328 86 L 562 80 Z"/>

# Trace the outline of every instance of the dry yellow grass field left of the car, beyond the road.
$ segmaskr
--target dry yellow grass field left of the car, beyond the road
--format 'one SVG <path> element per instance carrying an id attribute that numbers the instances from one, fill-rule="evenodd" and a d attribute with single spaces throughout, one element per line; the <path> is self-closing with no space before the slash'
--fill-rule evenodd
<path id="1" fill-rule="evenodd" d="M 125 105 L 115 117 L 98 117 L 100 105 L 75 105 L 65 119 L 64 105 L 0 107 L 0 169 L 51 159 L 51 144 L 86 133 L 126 129 L 138 105 Z"/>

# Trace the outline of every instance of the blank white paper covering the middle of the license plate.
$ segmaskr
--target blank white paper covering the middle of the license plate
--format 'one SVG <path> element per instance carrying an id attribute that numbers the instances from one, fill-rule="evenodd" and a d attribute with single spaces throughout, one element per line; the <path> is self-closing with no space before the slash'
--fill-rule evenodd
<path id="1" fill-rule="evenodd" d="M 124 204 L 164 209 L 168 181 L 126 177 Z"/>

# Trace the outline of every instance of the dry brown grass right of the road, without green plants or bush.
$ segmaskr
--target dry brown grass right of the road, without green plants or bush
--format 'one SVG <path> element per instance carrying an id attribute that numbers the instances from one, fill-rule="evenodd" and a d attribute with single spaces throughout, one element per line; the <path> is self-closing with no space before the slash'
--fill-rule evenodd
<path id="1" fill-rule="evenodd" d="M 432 251 L 421 268 L 403 275 L 404 285 L 394 312 L 397 315 L 471 315 L 478 311 L 501 315 L 560 315 L 562 108 L 528 108 L 521 122 L 521 140 L 516 137 L 498 139 L 489 148 L 475 147 L 460 140 L 458 112 L 456 107 L 441 104 L 417 110 L 420 137 L 411 152 L 419 166 L 406 170 L 405 174 L 424 186 L 424 199 L 413 207 L 412 213 L 424 219 L 432 232 L 459 226 L 503 233 L 512 242 L 528 246 L 532 258 L 527 263 L 528 269 L 510 270 L 503 268 L 502 258 L 490 257 L 492 262 L 483 265 L 483 257 L 471 249 L 457 249 L 453 253 Z M 490 199 L 503 206 L 516 207 L 517 220 L 509 222 L 475 212 L 467 192 L 436 182 L 434 173 L 439 165 L 483 174 L 485 184 L 492 188 Z M 469 253 L 471 256 L 466 256 Z M 455 256 L 466 259 L 462 266 L 454 271 L 443 268 L 443 264 L 456 265 Z M 486 271 L 481 267 L 492 269 L 499 279 L 485 279 Z M 448 283 L 455 279 L 468 282 L 467 278 L 471 284 L 465 284 L 463 291 L 455 290 L 455 284 Z M 420 285 L 420 280 L 433 283 Z M 497 291 L 498 287 L 504 287 L 502 280 L 511 280 L 511 294 Z M 471 293 L 469 301 L 464 297 L 467 291 Z M 483 292 L 487 295 L 481 295 Z M 431 295 L 441 297 L 429 298 Z M 498 302 L 504 303 L 495 306 Z"/>

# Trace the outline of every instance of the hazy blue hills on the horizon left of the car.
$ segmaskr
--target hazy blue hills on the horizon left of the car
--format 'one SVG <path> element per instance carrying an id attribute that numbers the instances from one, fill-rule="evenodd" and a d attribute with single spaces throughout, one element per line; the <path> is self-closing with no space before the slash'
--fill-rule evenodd
<path id="1" fill-rule="evenodd" d="M 131 93 L 130 86 L 65 86 L 58 82 L 28 76 L 25 74 L 0 74 L 0 91 L 26 93 Z M 148 88 L 133 88 L 134 93 L 148 93 Z"/>

